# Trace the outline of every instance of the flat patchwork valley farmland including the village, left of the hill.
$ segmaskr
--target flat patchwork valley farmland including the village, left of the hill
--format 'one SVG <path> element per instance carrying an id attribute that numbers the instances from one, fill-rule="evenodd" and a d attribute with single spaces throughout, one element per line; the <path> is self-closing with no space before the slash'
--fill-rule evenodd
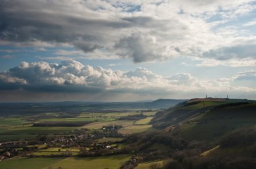
<path id="1" fill-rule="evenodd" d="M 0 168 L 119 168 L 132 156 L 120 154 L 127 145 L 125 135 L 150 131 L 156 113 L 151 109 L 83 107 L 77 112 L 72 107 L 75 113 L 35 109 L 0 116 L 0 150 L 5 154 L 10 151 L 6 148 L 13 148 Z M 116 152 L 120 155 L 113 155 Z"/>

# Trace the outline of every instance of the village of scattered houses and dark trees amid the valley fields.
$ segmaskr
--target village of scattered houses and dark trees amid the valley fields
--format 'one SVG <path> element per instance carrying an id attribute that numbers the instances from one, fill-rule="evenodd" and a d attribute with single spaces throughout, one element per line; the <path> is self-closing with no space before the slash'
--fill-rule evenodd
<path id="1" fill-rule="evenodd" d="M 15 141 L 0 143 L 0 160 L 6 160 L 15 156 L 30 156 L 37 157 L 40 155 L 33 154 L 34 152 L 57 148 L 57 152 L 49 152 L 42 156 L 97 156 L 104 154 L 119 154 L 118 145 L 123 142 L 107 141 L 99 142 L 99 139 L 106 137 L 122 137 L 117 132 L 121 125 L 103 126 L 99 130 L 88 130 L 86 128 L 74 129 L 71 135 L 42 135 L 35 140 L 30 141 Z M 73 154 L 70 150 L 77 150 Z M 65 150 L 65 151 L 63 151 Z"/>

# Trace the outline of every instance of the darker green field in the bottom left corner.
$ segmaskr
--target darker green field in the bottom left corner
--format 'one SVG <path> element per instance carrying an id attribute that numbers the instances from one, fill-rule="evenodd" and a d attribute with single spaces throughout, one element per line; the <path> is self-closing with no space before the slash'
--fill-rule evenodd
<path id="1" fill-rule="evenodd" d="M 0 162 L 1 169 L 40 169 L 60 162 L 64 158 L 11 158 Z"/>

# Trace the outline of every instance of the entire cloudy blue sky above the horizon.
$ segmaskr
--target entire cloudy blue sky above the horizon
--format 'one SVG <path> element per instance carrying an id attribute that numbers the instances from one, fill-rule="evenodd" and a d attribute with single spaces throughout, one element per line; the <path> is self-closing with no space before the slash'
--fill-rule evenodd
<path id="1" fill-rule="evenodd" d="M 0 102 L 256 99 L 256 0 L 2 0 Z"/>

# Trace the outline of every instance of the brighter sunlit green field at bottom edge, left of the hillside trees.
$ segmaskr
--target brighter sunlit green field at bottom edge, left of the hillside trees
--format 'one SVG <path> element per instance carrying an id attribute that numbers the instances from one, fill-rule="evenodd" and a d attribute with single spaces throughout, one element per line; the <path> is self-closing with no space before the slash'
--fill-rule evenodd
<path id="1" fill-rule="evenodd" d="M 69 168 L 119 168 L 125 161 L 129 160 L 131 155 L 122 154 L 116 156 L 100 156 L 100 157 L 88 157 L 88 158 L 67 158 L 61 162 L 49 166 L 49 168 L 57 169 L 69 169 Z M 45 168 L 46 169 L 46 168 Z"/>

